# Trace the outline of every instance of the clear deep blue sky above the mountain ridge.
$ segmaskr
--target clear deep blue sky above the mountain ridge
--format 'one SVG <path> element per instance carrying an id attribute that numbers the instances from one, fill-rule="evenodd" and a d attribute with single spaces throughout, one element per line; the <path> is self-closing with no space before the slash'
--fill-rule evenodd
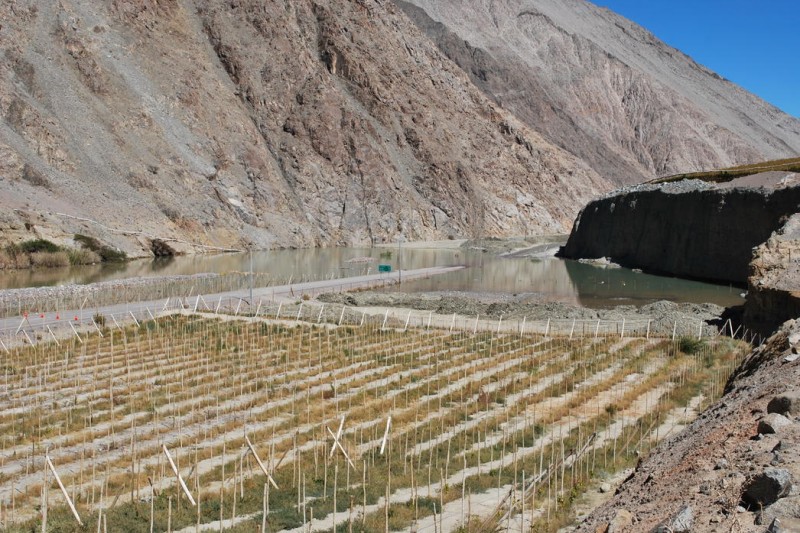
<path id="1" fill-rule="evenodd" d="M 592 0 L 800 117 L 800 0 Z"/>

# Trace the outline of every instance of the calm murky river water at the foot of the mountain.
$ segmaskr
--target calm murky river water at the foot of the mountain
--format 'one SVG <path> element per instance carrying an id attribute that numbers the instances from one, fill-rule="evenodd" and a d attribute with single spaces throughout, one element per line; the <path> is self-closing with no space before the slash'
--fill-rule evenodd
<path id="1" fill-rule="evenodd" d="M 369 258 L 366 260 L 365 258 Z M 86 284 L 145 276 L 216 272 L 248 272 L 249 254 L 195 255 L 122 264 L 91 265 L 0 273 L 0 287 Z M 743 303 L 742 289 L 679 278 L 636 273 L 625 268 L 602 268 L 556 258 L 503 258 L 481 250 L 400 248 L 316 248 L 253 252 L 255 272 L 274 282 L 301 282 L 374 273 L 387 265 L 398 268 L 442 265 L 468 268 L 430 279 L 403 283 L 407 292 L 465 291 L 530 295 L 544 301 L 564 301 L 591 308 L 621 304 L 645 305 L 657 300 L 712 302 L 723 306 Z"/>

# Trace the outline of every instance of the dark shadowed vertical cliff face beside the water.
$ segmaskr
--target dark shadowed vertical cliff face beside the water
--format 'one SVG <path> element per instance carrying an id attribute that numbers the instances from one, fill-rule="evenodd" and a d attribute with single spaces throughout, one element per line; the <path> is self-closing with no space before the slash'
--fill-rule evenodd
<path id="1" fill-rule="evenodd" d="M 561 255 L 608 257 L 652 272 L 744 284 L 752 249 L 781 228 L 798 205 L 800 187 L 639 186 L 588 204 Z M 764 255 L 774 257 L 768 251 Z M 768 269 L 769 260 L 762 264 Z"/>

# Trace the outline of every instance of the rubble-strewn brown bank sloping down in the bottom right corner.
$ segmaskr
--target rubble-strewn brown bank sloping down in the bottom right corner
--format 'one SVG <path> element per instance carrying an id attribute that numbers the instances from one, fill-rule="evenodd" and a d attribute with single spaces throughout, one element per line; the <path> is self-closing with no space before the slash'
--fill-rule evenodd
<path id="1" fill-rule="evenodd" d="M 800 531 L 800 420 L 762 434 L 769 405 L 800 392 L 800 322 L 789 321 L 749 354 L 724 396 L 643 460 L 577 531 L 605 531 L 624 509 L 630 531 Z M 792 344 L 794 341 L 795 344 Z"/>

